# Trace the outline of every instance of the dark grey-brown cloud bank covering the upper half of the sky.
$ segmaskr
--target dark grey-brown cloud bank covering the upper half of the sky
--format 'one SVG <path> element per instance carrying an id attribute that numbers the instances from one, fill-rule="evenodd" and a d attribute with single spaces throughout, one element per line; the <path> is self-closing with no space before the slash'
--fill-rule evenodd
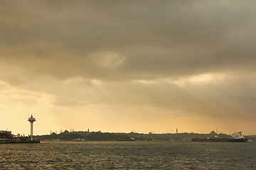
<path id="1" fill-rule="evenodd" d="M 251 4 L 5 1 L 1 7 L 1 46 L 10 47 L 11 52 L 14 47 L 14 51 L 28 47 L 20 52 L 31 56 L 26 61 L 34 63 L 29 66 L 31 71 L 41 69 L 41 73 L 56 77 L 79 74 L 97 79 L 132 79 L 130 74 L 136 74 L 134 78 L 143 79 L 253 69 L 256 13 Z M 126 57 L 116 68 L 117 73 L 97 67 L 88 59 L 91 53 L 102 50 Z M 63 57 L 63 51 L 68 55 Z M 38 57 L 42 63 L 35 61 Z M 24 60 L 28 59 L 19 56 L 17 62 Z M 47 64 L 54 62 L 59 68 Z"/>

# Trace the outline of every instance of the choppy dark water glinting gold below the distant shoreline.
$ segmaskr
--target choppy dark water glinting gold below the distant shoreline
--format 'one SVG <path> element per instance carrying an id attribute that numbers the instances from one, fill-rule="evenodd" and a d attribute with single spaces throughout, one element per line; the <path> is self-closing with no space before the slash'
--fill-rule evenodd
<path id="1" fill-rule="evenodd" d="M 256 142 L 2 144 L 0 169 L 256 169 Z"/>

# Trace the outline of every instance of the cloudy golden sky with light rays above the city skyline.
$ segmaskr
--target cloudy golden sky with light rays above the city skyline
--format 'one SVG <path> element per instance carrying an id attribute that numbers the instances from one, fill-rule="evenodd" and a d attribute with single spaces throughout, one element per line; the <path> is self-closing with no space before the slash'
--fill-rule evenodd
<path id="1" fill-rule="evenodd" d="M 0 130 L 256 134 L 255 1 L 0 4 Z"/>

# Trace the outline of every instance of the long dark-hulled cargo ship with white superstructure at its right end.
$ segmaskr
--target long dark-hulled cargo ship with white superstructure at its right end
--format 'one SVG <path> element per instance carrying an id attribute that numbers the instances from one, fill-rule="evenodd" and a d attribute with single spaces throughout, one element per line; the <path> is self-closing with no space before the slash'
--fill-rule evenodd
<path id="1" fill-rule="evenodd" d="M 230 137 L 207 137 L 207 138 L 193 138 L 193 142 L 247 142 L 247 138 L 241 132 L 235 132 Z"/>

